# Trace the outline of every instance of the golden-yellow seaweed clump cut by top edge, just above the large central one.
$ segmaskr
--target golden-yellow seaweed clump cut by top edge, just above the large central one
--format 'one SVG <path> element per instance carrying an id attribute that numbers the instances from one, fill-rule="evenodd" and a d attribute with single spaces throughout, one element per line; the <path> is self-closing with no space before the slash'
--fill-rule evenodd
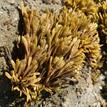
<path id="1" fill-rule="evenodd" d="M 96 21 L 98 6 L 93 0 L 64 0 L 64 5 L 72 10 L 81 10 L 87 17 Z"/>

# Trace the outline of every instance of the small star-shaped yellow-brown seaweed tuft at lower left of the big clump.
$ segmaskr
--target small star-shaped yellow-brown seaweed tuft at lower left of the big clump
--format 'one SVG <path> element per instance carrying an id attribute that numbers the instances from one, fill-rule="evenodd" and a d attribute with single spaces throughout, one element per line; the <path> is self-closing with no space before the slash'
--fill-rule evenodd
<path id="1" fill-rule="evenodd" d="M 12 90 L 19 91 L 20 96 L 26 95 L 27 102 L 36 99 L 41 88 L 40 73 L 35 72 L 38 67 L 37 61 L 32 61 L 32 57 L 29 57 L 21 61 L 17 59 L 16 62 L 11 60 L 11 64 L 13 70 L 10 73 L 6 72 L 5 75 L 11 80 Z"/>

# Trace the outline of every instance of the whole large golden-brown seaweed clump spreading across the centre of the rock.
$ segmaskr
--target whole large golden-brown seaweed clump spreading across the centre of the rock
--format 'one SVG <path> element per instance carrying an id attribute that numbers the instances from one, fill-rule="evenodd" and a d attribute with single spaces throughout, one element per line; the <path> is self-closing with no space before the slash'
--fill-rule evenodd
<path id="1" fill-rule="evenodd" d="M 18 38 L 24 46 L 24 58 L 10 60 L 13 70 L 5 72 L 13 91 L 26 96 L 26 102 L 37 99 L 42 90 L 55 92 L 66 78 L 79 79 L 87 63 L 96 72 L 101 50 L 97 24 L 82 11 L 66 7 L 58 15 L 21 5 L 25 34 Z M 87 61 L 86 61 L 87 59 Z"/>

